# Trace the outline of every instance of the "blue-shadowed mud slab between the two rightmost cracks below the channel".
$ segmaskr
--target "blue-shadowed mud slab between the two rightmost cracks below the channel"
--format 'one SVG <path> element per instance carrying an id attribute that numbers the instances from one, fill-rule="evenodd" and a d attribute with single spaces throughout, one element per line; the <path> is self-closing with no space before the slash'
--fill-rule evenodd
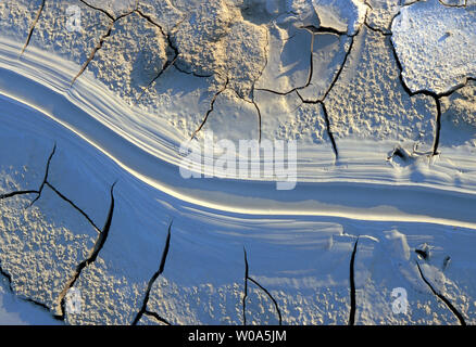
<path id="1" fill-rule="evenodd" d="M 418 240 L 418 236 L 414 237 L 406 231 L 405 233 L 388 230 L 378 240 L 362 237 L 359 241 L 355 258 L 356 323 L 458 324 L 447 306 L 421 279 L 415 262 L 421 259 L 414 249 L 423 237 Z M 409 242 L 413 244 L 410 246 Z M 394 275 L 389 278 L 388 271 L 392 271 Z M 394 288 L 405 290 L 405 313 L 399 313 L 398 308 L 393 307 L 397 299 L 403 298 L 399 295 L 404 295 L 393 293 L 392 296 Z"/>

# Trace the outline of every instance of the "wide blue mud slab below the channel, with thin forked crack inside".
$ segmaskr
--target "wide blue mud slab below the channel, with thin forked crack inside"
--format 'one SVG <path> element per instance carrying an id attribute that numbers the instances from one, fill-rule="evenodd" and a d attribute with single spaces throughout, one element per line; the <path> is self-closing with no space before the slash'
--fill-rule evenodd
<path id="1" fill-rule="evenodd" d="M 171 324 L 278 324 L 276 305 L 283 324 L 347 323 L 353 240 L 341 236 L 338 226 L 295 224 L 292 242 L 281 224 L 260 234 L 220 223 L 198 223 L 192 232 L 179 220 L 174 226 L 165 270 L 148 303 L 149 311 Z M 209 262 L 213 269 L 203 266 Z M 246 292 L 247 272 L 252 280 Z"/>

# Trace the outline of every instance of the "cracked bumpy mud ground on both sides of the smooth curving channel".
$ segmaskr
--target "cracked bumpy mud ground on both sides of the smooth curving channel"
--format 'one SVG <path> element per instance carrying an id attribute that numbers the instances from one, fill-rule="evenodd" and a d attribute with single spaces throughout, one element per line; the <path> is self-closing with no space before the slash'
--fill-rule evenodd
<path id="1" fill-rule="evenodd" d="M 68 5 L 82 10 L 79 31 L 65 28 Z M 79 100 L 104 92 L 98 98 L 107 106 L 78 107 L 86 115 L 137 113 L 147 125 L 115 114 L 85 128 L 75 124 L 72 139 L 92 144 L 82 146 L 55 128 L 41 136 L 25 130 L 26 120 L 15 125 L 5 118 L 4 133 L 25 131 L 5 137 L 0 150 L 0 273 L 10 291 L 70 324 L 426 324 L 455 318 L 474 323 L 475 269 L 463 257 L 475 242 L 473 217 L 464 215 L 474 204 L 464 195 L 474 188 L 474 163 L 467 164 L 476 143 L 474 5 L 452 0 L 3 1 L 1 44 L 16 54 L 13 73 L 46 51 L 61 59 L 58 66 L 52 60 L 48 76 L 67 70 L 61 77 L 67 83 L 50 83 L 53 90 Z M 437 23 L 431 33 L 429 22 Z M 3 74 L 8 60 L 0 57 Z M 21 100 L 7 85 L 0 85 L 2 98 Z M 59 110 L 45 107 L 52 119 Z M 171 198 L 143 183 L 151 171 L 161 171 L 158 167 L 127 172 L 129 163 L 114 159 L 120 150 L 96 151 L 102 142 L 88 131 L 114 123 L 123 138 L 137 134 L 142 150 L 200 140 L 204 130 L 234 143 L 299 140 L 314 155 L 304 164 L 318 164 L 303 176 L 320 183 L 365 177 L 356 171 L 362 176 L 354 179 L 345 170 L 368 164 L 355 145 L 368 142 L 362 152 L 377 153 L 380 165 L 368 165 L 373 179 L 385 180 L 386 170 L 401 179 L 399 184 L 451 177 L 444 182 L 465 189 L 458 191 L 462 203 L 453 209 L 461 224 L 431 207 L 413 215 L 404 205 L 380 210 L 391 202 L 359 200 L 371 194 L 365 190 L 341 213 L 318 218 L 305 214 L 337 206 L 334 195 L 340 193 L 326 195 L 323 205 L 303 203 L 320 198 L 312 190 L 305 198 L 295 196 L 292 208 L 302 208 L 301 218 L 296 210 L 270 217 L 270 206 L 279 200 L 260 202 L 253 192 L 235 188 L 237 204 L 249 194 L 255 201 L 243 205 L 265 206 L 260 211 L 266 221 L 241 215 L 242 206 L 229 215 L 212 213 L 180 200 L 192 189 Z M 122 147 L 127 159 L 145 163 L 129 145 Z M 467 147 L 450 160 L 446 152 L 458 145 Z M 23 150 L 4 150 L 10 147 Z M 430 176 L 434 164 L 440 171 Z M 171 190 L 167 184 L 161 187 Z M 225 195 L 230 204 L 235 197 Z M 365 220 L 362 210 L 352 209 L 358 203 L 376 217 Z M 391 219 L 399 213 L 406 215 Z M 428 216 L 434 219 L 425 220 Z M 385 221 L 398 230 L 388 231 Z M 422 224 L 419 233 L 411 226 L 415 222 Z M 435 257 L 418 248 L 423 241 L 436 245 Z M 401 283 L 388 281 L 390 270 L 413 295 L 406 317 L 390 311 L 387 282 Z M 65 312 L 72 287 L 83 293 L 79 314 Z"/>

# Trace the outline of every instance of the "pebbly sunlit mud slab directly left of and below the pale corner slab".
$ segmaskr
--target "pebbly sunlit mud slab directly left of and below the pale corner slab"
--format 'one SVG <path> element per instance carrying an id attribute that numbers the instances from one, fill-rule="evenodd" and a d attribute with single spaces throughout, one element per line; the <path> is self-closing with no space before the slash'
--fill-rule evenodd
<path id="1" fill-rule="evenodd" d="M 337 138 L 394 139 L 430 147 L 435 100 L 410 97 L 401 85 L 390 39 L 363 27 L 325 103 Z"/>

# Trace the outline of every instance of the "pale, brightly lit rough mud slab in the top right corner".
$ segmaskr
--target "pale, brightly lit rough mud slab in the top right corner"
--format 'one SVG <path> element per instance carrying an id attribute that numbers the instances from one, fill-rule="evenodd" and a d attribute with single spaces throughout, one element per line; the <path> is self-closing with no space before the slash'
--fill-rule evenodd
<path id="1" fill-rule="evenodd" d="M 391 31 L 406 86 L 414 92 L 441 94 L 476 77 L 475 25 L 472 7 L 429 0 L 402 8 Z"/>

